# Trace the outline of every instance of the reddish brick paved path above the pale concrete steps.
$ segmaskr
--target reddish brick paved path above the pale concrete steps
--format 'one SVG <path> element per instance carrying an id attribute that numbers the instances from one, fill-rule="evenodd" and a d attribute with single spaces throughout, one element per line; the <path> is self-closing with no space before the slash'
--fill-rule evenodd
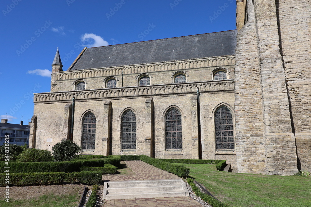
<path id="1" fill-rule="evenodd" d="M 160 170 L 141 160 L 124 161 L 135 175 L 104 175 L 104 181 L 181 179 L 177 175 Z"/>

